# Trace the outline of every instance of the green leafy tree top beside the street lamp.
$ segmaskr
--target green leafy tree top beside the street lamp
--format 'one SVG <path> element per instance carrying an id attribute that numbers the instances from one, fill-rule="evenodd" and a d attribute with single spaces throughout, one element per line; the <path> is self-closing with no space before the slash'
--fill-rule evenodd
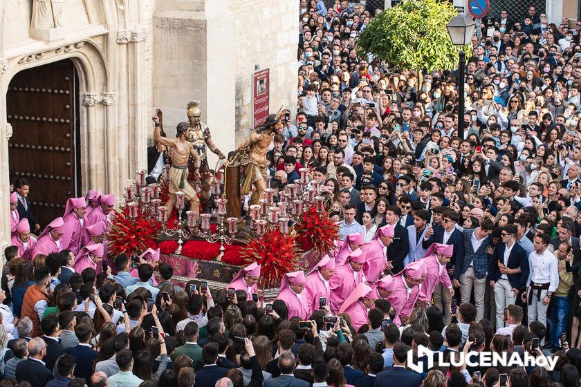
<path id="1" fill-rule="evenodd" d="M 399 68 L 457 68 L 458 48 L 446 29 L 457 13 L 448 1 L 404 0 L 371 19 L 361 32 L 358 51 Z"/>

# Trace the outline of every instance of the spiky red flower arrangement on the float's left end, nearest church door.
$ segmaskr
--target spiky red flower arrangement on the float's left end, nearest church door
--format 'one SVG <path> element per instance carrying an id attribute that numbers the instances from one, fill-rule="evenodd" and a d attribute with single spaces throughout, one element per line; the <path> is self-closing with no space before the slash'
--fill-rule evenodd
<path id="1" fill-rule="evenodd" d="M 156 236 L 161 225 L 156 218 L 147 218 L 138 207 L 135 220 L 129 218 L 127 208 L 116 211 L 111 220 L 111 229 L 107 232 L 109 254 L 141 254 L 149 247 L 157 248 Z"/>

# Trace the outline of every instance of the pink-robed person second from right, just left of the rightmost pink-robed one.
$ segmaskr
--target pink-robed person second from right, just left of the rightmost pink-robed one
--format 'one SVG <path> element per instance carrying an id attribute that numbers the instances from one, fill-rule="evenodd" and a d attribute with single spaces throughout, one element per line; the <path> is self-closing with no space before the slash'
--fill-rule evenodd
<path id="1" fill-rule="evenodd" d="M 402 272 L 394 276 L 394 290 L 387 301 L 396 310 L 394 318 L 396 325 L 405 325 L 409 319 L 409 314 L 414 310 L 420 292 L 419 284 L 422 281 L 422 276 L 425 276 L 425 270 L 424 263 L 419 260 L 410 263 Z"/>

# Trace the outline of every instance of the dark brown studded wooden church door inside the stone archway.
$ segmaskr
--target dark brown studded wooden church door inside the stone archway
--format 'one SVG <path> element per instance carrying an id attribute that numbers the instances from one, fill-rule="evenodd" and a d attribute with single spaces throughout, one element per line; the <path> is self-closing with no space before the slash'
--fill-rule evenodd
<path id="1" fill-rule="evenodd" d="M 81 193 L 79 77 L 71 59 L 28 68 L 10 81 L 6 114 L 10 182 L 30 182 L 40 225 L 62 216 Z"/>

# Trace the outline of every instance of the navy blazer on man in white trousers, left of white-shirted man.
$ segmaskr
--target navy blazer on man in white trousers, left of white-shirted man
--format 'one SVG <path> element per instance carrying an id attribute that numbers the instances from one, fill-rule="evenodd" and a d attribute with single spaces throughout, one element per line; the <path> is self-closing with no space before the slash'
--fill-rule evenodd
<path id="1" fill-rule="evenodd" d="M 492 256 L 492 259 L 490 260 L 490 266 L 488 267 L 488 279 L 495 282 L 500 279 L 502 274 L 498 268 L 498 263 L 500 262 L 504 264 L 505 250 L 506 245 L 504 243 L 497 243 L 495 247 L 495 254 Z M 516 269 L 517 267 L 520 267 L 521 272 L 519 274 L 508 274 L 507 277 L 510 286 L 518 290 L 524 289 L 529 272 L 528 256 L 526 256 L 526 252 L 518 242 L 515 242 L 513 249 L 510 250 L 507 266 L 509 269 Z"/>

